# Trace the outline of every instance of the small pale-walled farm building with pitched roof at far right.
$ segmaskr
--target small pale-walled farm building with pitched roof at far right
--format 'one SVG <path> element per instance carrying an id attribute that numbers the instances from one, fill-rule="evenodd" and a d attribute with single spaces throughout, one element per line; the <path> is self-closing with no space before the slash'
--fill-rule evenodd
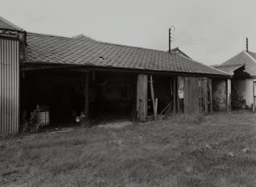
<path id="1" fill-rule="evenodd" d="M 232 108 L 255 110 L 256 53 L 242 51 L 216 68 L 232 76 Z"/>

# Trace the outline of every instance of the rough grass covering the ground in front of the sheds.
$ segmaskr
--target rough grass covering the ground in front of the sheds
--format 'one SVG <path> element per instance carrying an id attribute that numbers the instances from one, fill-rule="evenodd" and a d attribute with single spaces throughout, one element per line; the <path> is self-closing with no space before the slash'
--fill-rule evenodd
<path id="1" fill-rule="evenodd" d="M 0 185 L 256 186 L 255 120 L 232 111 L 1 137 Z"/>

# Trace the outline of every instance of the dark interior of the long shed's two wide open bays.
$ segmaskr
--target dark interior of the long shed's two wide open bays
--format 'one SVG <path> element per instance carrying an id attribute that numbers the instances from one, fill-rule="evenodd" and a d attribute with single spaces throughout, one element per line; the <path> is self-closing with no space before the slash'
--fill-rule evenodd
<path id="1" fill-rule="evenodd" d="M 75 124 L 85 109 L 85 73 L 41 70 L 21 73 L 21 112 L 40 105 L 49 110 L 50 126 Z M 89 119 L 108 121 L 134 114 L 136 76 L 132 73 L 89 73 Z M 21 114 L 22 114 L 21 113 Z"/>

